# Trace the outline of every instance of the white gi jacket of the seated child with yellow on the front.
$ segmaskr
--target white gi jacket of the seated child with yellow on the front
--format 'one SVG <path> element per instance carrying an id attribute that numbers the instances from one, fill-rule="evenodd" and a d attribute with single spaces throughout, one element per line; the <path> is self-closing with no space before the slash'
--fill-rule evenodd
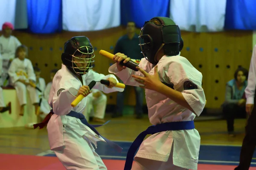
<path id="1" fill-rule="evenodd" d="M 25 80 L 26 82 L 29 82 L 29 80 L 36 81 L 32 62 L 27 58 L 24 60 L 20 60 L 19 58 L 13 59 L 8 74 L 12 85 L 18 79 Z"/>

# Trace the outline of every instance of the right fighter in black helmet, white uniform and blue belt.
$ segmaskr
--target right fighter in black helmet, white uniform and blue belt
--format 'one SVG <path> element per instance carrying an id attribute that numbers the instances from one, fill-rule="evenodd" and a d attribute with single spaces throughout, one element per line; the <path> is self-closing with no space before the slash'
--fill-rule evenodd
<path id="1" fill-rule="evenodd" d="M 136 67 L 139 71 L 120 65 L 120 61 L 132 62 L 120 53 L 109 68 L 126 85 L 145 88 L 152 124 L 131 145 L 124 170 L 197 170 L 200 135 L 193 120 L 206 103 L 202 74 L 180 56 L 183 40 L 170 18 L 145 22 L 140 46 L 145 59 Z M 143 141 L 147 134 L 152 135 Z"/>

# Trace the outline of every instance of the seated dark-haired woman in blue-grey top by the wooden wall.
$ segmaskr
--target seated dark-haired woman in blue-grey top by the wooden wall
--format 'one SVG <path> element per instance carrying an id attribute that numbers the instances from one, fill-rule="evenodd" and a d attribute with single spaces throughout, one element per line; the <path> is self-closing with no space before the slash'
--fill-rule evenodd
<path id="1" fill-rule="evenodd" d="M 230 136 L 234 136 L 234 119 L 246 118 L 244 90 L 247 86 L 248 70 L 238 68 L 235 71 L 234 79 L 226 84 L 225 102 L 222 105 L 227 130 Z"/>

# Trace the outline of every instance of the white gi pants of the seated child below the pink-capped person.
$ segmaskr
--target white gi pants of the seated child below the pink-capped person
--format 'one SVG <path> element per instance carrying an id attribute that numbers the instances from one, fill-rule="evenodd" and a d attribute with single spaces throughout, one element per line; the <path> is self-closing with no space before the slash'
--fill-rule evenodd
<path id="1" fill-rule="evenodd" d="M 20 102 L 20 106 L 22 105 L 26 105 L 27 101 L 26 101 L 26 94 L 27 91 L 29 92 L 29 97 L 31 100 L 31 103 L 39 103 L 39 96 L 36 93 L 36 89 L 33 88 L 31 85 L 24 85 L 22 82 L 15 82 L 14 83 L 14 87 L 16 89 L 17 92 L 17 96 L 18 96 L 18 100 Z"/>

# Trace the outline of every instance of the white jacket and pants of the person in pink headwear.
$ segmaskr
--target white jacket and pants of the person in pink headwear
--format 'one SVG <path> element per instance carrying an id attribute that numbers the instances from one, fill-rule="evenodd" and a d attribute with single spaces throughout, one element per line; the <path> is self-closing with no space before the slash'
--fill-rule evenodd
<path id="1" fill-rule="evenodd" d="M 16 48 L 20 45 L 20 41 L 15 36 L 11 35 L 9 38 L 4 37 L 3 35 L 0 36 L 0 52 L 3 57 L 2 83 L 4 83 L 8 77 L 9 60 L 15 58 Z"/>

